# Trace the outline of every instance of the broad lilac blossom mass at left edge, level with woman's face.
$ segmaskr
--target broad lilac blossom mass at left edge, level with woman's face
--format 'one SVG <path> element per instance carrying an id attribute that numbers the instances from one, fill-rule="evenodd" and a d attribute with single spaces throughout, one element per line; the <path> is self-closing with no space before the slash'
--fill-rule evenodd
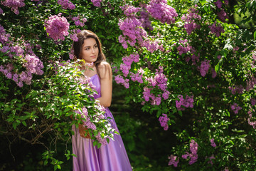
<path id="1" fill-rule="evenodd" d="M 9 56 L 9 62 L 0 65 L 0 72 L 6 78 L 13 80 L 19 87 L 23 87 L 23 83 L 31 84 L 32 74 L 43 75 L 43 62 L 33 53 L 31 44 L 26 43 L 22 38 L 21 43 L 10 41 L 10 35 L 6 33 L 1 25 L 0 32 L 0 51 Z M 14 56 L 22 58 L 22 66 L 25 68 L 25 71 L 21 73 L 17 71 L 13 64 L 16 61 L 16 58 L 13 58 Z"/>

